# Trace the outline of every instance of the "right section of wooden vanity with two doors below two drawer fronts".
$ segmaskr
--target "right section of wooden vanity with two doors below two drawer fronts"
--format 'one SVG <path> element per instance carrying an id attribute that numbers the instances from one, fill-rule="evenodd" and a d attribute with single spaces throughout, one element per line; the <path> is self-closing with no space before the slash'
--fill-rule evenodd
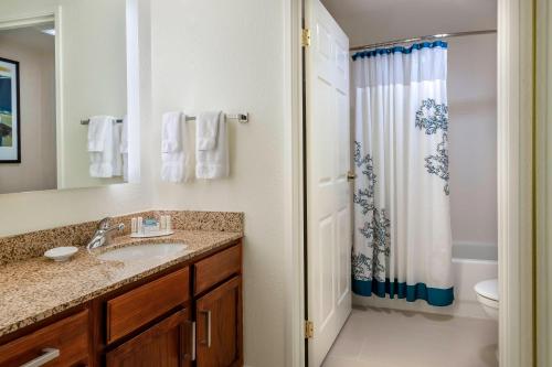
<path id="1" fill-rule="evenodd" d="M 107 367 L 243 365 L 242 246 L 105 301 Z"/>

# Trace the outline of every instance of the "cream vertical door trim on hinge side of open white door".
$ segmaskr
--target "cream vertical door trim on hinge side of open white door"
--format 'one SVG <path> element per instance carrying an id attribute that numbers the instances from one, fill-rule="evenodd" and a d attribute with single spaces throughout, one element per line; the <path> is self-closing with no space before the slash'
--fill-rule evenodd
<path id="1" fill-rule="evenodd" d="M 284 6 L 284 107 L 285 107 L 285 360 L 286 366 L 305 365 L 305 269 L 302 181 L 302 28 L 301 0 Z"/>

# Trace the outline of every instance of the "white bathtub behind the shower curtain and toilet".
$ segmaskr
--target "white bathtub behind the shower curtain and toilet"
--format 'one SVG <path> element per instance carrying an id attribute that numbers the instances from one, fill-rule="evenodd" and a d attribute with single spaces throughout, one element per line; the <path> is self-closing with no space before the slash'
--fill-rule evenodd
<path id="1" fill-rule="evenodd" d="M 353 295 L 357 306 L 438 313 L 461 317 L 489 319 L 477 301 L 474 285 L 486 279 L 498 278 L 498 247 L 495 244 L 454 242 L 453 271 L 455 278 L 455 302 L 450 306 L 434 307 L 425 301 L 363 298 Z"/>

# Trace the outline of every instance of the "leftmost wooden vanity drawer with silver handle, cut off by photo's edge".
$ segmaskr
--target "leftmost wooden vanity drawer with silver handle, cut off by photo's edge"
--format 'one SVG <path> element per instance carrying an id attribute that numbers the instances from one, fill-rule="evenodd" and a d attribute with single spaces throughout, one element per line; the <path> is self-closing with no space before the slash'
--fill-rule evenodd
<path id="1" fill-rule="evenodd" d="M 0 346 L 0 366 L 21 366 L 41 357 L 50 360 L 44 360 L 49 367 L 88 364 L 88 310 Z"/>

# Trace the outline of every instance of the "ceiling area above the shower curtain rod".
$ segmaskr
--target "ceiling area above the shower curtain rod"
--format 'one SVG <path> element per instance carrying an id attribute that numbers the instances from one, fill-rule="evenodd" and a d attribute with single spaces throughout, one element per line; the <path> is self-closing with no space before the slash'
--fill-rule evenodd
<path id="1" fill-rule="evenodd" d="M 497 0 L 321 0 L 351 45 L 497 28 Z"/>

